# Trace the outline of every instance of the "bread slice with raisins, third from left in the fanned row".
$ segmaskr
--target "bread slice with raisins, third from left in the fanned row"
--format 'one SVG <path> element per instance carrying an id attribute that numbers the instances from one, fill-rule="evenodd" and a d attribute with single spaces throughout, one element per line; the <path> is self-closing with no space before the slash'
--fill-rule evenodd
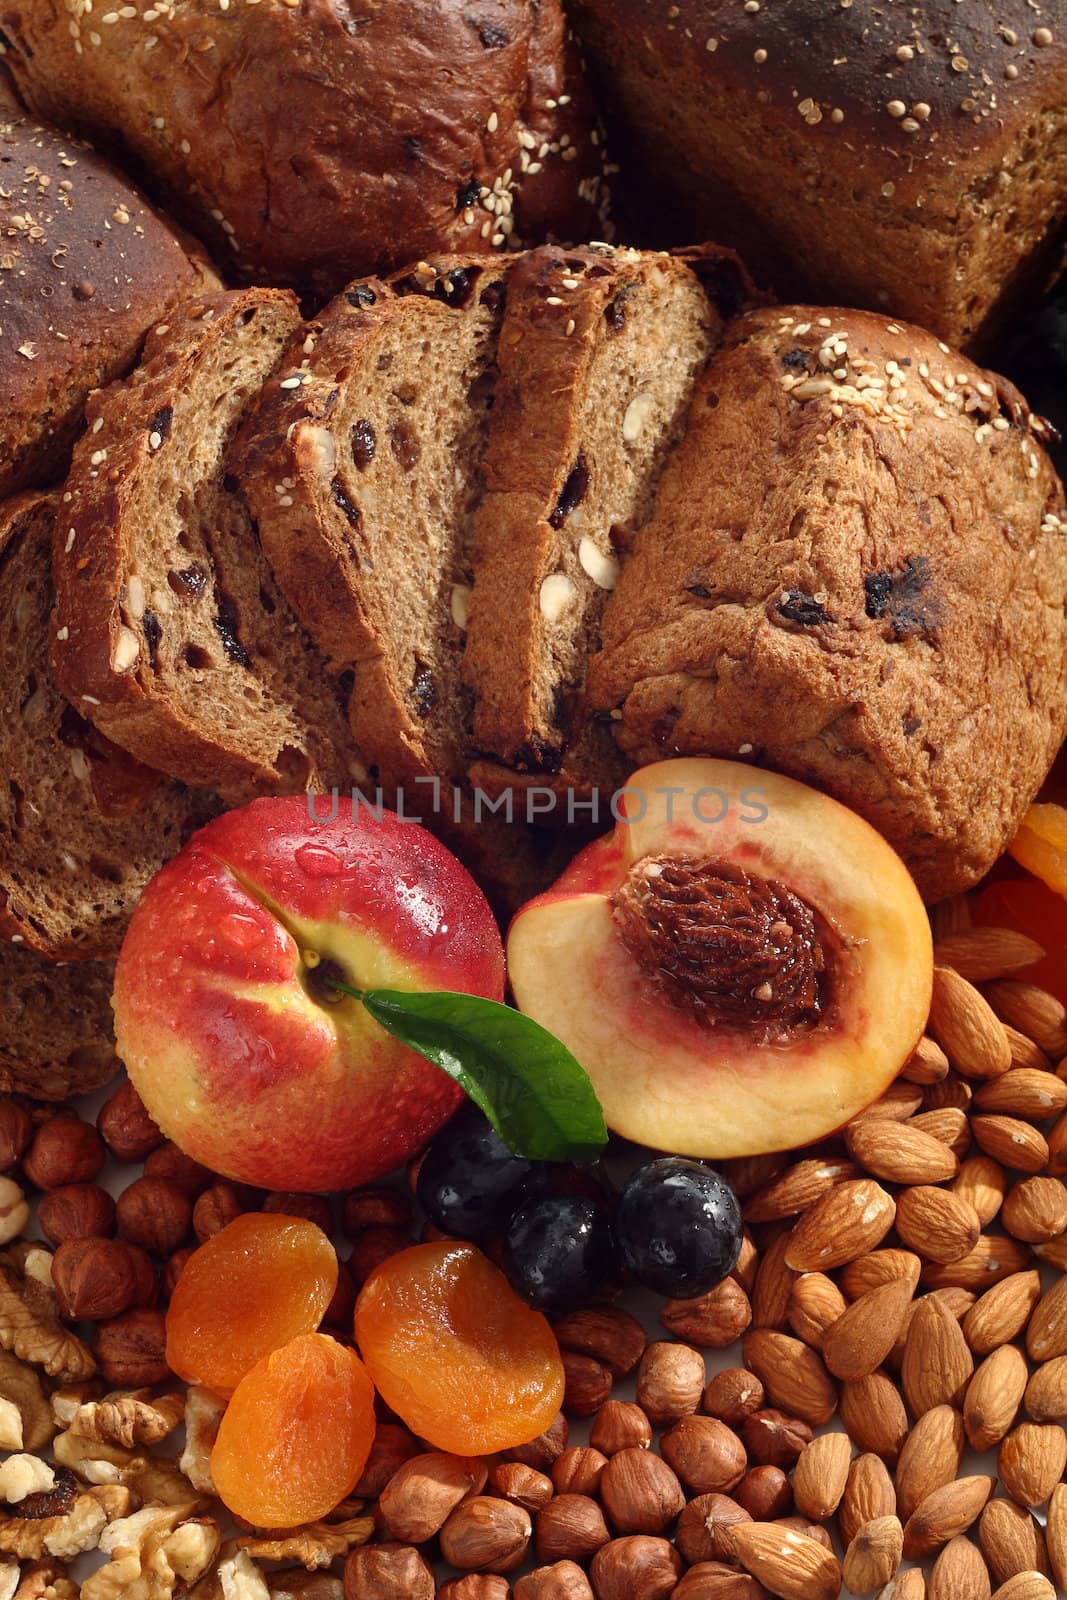
<path id="1" fill-rule="evenodd" d="M 387 790 L 464 774 L 470 528 L 506 262 L 352 283 L 290 346 L 232 458 L 278 582 Z"/>

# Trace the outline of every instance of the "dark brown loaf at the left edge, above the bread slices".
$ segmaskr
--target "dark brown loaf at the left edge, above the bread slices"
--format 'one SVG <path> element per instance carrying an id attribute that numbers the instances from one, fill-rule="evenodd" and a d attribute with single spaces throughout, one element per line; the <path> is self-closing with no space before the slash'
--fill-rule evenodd
<path id="1" fill-rule="evenodd" d="M 62 472 L 91 389 L 216 285 L 88 146 L 0 109 L 0 498 Z"/>

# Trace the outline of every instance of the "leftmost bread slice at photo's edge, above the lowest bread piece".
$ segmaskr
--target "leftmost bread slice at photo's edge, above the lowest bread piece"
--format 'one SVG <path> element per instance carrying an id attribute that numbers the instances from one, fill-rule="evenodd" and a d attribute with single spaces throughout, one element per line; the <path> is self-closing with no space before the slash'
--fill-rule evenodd
<path id="1" fill-rule="evenodd" d="M 115 955 L 154 872 L 216 810 L 117 749 L 48 667 L 58 496 L 0 509 L 0 936 L 54 958 Z"/>

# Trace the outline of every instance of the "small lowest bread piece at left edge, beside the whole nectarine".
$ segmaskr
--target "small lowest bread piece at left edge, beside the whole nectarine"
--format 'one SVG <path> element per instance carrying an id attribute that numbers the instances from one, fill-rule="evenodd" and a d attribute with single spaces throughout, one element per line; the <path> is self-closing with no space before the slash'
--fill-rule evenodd
<path id="1" fill-rule="evenodd" d="M 0 944 L 0 1093 L 62 1101 L 118 1072 L 110 962 L 48 962 Z"/>

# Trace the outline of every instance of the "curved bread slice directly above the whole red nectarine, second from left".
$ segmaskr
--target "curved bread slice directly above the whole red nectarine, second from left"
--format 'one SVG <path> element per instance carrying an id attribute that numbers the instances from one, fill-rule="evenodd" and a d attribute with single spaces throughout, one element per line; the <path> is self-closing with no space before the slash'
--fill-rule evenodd
<path id="1" fill-rule="evenodd" d="M 224 466 L 298 326 L 277 290 L 174 312 L 133 376 L 91 400 L 56 525 L 64 694 L 139 760 L 227 800 L 350 786 L 358 763 L 339 686 Z"/>

